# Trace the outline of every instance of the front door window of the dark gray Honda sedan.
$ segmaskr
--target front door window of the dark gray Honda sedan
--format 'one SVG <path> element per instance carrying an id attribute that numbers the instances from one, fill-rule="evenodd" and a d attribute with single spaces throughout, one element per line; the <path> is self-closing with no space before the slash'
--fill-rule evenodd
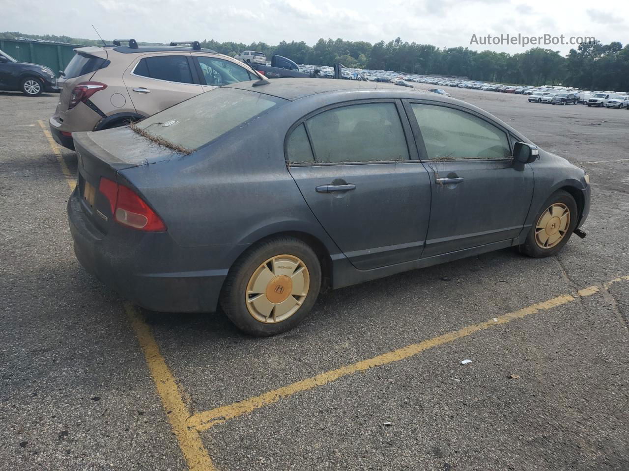
<path id="1" fill-rule="evenodd" d="M 464 111 L 413 103 L 428 160 L 511 157 L 506 133 Z"/>

